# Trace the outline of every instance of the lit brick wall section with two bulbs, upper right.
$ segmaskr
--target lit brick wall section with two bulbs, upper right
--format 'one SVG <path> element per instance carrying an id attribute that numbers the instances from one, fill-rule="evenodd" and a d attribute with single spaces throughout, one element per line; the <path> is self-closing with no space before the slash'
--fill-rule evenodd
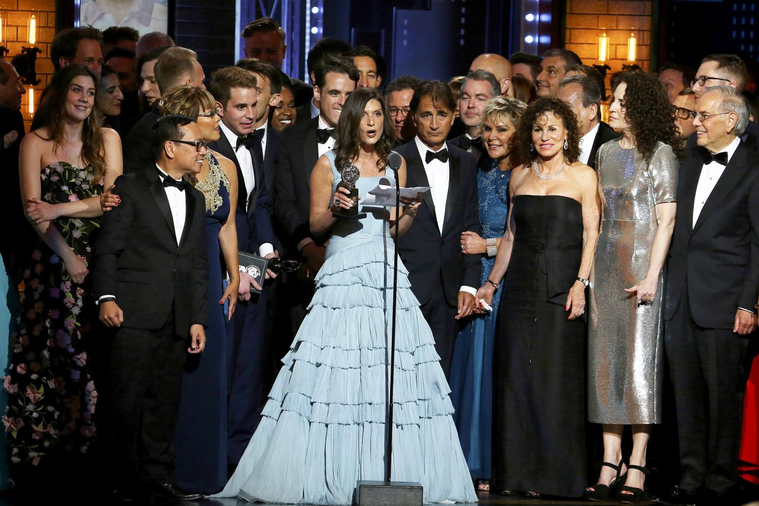
<path id="1" fill-rule="evenodd" d="M 636 63 L 649 71 L 651 43 L 650 0 L 567 0 L 566 49 L 578 54 L 584 64 L 598 61 L 598 37 L 609 36 L 609 60 L 612 70 L 606 72 L 606 93 L 609 79 L 622 70 L 627 61 L 627 39 L 631 32 L 638 39 Z"/>

